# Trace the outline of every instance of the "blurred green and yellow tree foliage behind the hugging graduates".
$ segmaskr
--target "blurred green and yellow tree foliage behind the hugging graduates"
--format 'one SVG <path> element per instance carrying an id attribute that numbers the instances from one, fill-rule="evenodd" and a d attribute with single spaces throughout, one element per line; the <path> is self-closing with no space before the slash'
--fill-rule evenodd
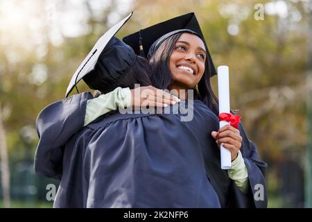
<path id="1" fill-rule="evenodd" d="M 269 207 L 311 207 L 309 0 L 0 0 L 0 207 L 52 206 L 46 185 L 58 181 L 33 173 L 37 114 L 132 10 L 117 37 L 196 12 L 216 67 L 229 66 L 231 107 L 268 162 Z"/>

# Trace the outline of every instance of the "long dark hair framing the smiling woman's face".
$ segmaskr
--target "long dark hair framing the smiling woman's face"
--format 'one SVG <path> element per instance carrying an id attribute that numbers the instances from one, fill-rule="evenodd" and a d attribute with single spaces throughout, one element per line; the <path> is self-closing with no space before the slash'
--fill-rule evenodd
<path id="1" fill-rule="evenodd" d="M 171 70 L 169 68 L 169 59 L 175 47 L 175 43 L 183 33 L 177 33 L 168 37 L 159 46 L 157 51 L 150 58 L 150 71 L 152 73 L 151 80 L 154 87 L 159 89 L 168 89 L 173 83 Z M 216 115 L 218 115 L 218 98 L 214 94 L 210 85 L 211 67 L 208 58 L 205 60 L 205 71 L 198 83 L 199 94 L 194 94 L 194 99 L 198 99 L 205 103 Z"/>

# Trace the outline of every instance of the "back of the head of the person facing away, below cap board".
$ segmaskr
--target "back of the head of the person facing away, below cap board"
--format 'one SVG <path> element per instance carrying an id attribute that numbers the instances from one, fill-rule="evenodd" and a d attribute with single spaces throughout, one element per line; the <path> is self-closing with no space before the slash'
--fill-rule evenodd
<path id="1" fill-rule="evenodd" d="M 135 55 L 130 46 L 112 37 L 94 69 L 83 80 L 91 89 L 107 93 L 116 87 L 134 88 L 135 83 L 150 85 L 149 73 L 145 58 Z"/>

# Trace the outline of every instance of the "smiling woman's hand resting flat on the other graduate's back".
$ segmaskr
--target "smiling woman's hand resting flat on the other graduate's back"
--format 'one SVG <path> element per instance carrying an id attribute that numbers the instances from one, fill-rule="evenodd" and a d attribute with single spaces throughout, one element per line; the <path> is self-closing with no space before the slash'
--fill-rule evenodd
<path id="1" fill-rule="evenodd" d="M 166 107 L 180 102 L 176 96 L 151 85 L 131 89 L 132 107 Z"/>

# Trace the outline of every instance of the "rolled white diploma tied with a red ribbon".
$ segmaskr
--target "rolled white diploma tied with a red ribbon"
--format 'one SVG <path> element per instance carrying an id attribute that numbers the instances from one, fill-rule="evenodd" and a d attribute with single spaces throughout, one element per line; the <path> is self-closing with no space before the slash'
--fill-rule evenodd
<path id="1" fill-rule="evenodd" d="M 218 99 L 219 114 L 222 112 L 229 113 L 229 67 L 222 65 L 218 67 Z M 227 121 L 220 121 L 220 128 L 229 125 Z M 220 146 L 221 169 L 232 168 L 231 152 Z"/>

